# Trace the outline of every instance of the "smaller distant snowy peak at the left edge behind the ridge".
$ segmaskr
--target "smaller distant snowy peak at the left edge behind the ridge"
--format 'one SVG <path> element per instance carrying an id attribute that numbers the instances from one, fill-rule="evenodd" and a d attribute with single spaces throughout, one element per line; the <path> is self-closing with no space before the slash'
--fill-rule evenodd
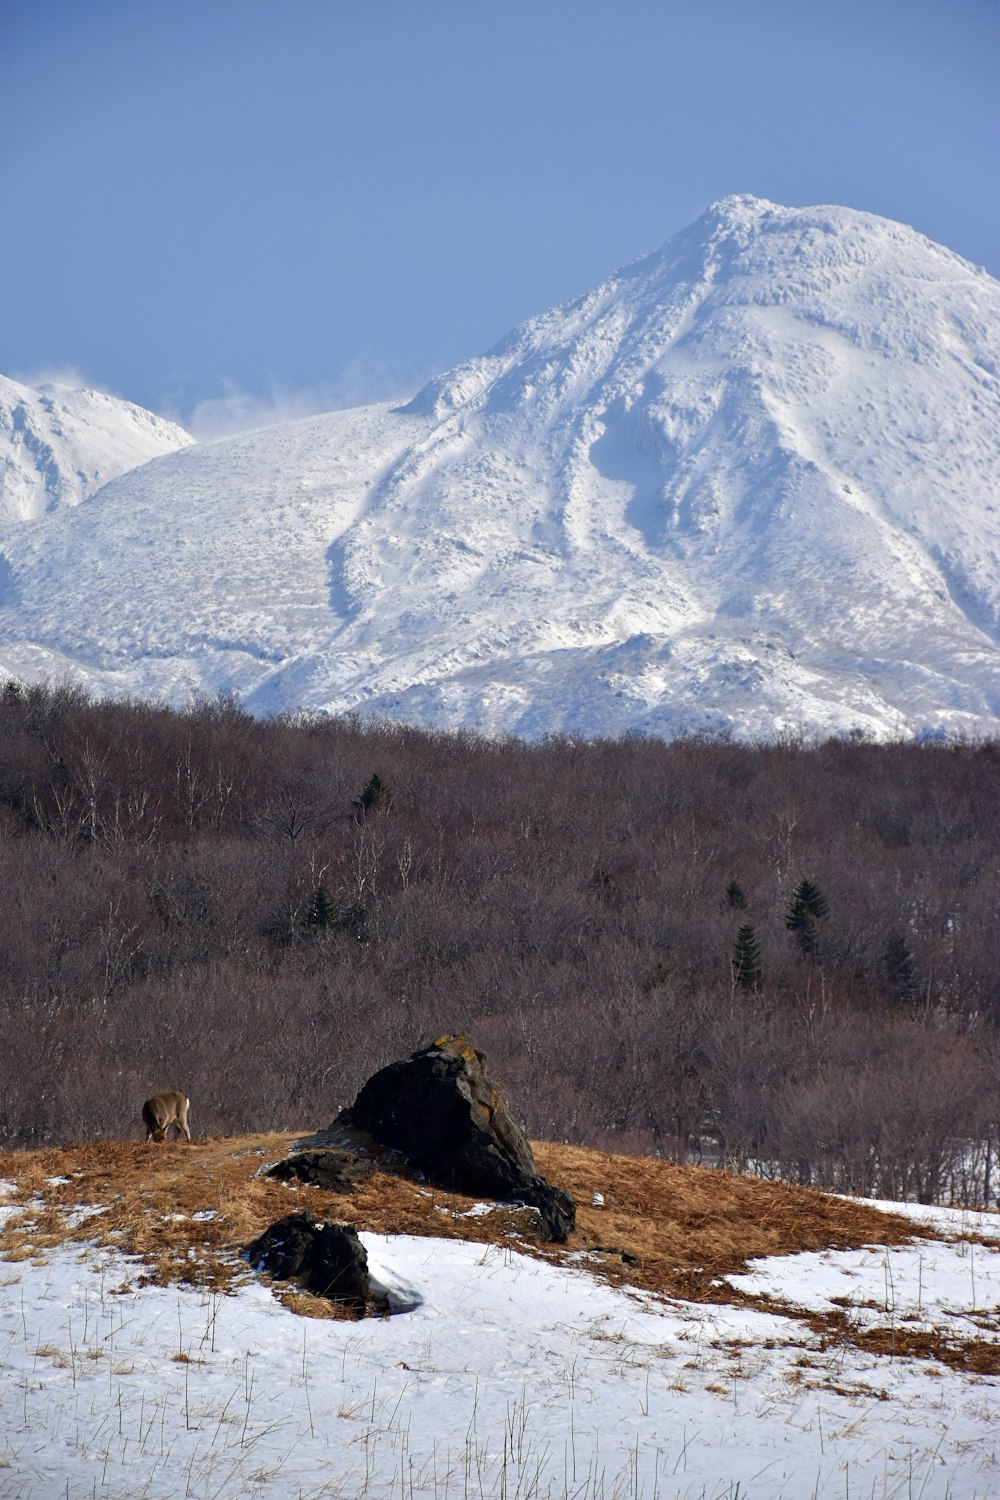
<path id="1" fill-rule="evenodd" d="M 127 470 L 193 442 L 183 428 L 97 390 L 0 376 L 0 519 L 76 506 Z"/>

